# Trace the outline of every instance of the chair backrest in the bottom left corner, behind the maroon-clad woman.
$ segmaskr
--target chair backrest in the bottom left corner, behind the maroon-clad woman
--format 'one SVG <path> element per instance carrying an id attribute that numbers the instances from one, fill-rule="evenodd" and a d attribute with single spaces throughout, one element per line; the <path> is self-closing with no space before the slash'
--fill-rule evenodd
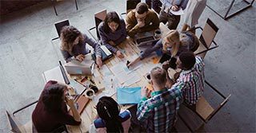
<path id="1" fill-rule="evenodd" d="M 6 116 L 10 124 L 10 128 L 11 128 L 10 131 L 18 132 L 18 133 L 26 132 L 25 129 L 23 129 L 23 127 L 19 125 L 18 121 L 14 119 L 14 117 L 10 115 L 8 111 L 6 111 Z"/>

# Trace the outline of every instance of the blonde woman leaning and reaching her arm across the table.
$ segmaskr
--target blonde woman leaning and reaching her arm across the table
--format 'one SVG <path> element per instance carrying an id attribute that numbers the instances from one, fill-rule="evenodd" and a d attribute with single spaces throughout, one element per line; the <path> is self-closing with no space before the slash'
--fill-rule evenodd
<path id="1" fill-rule="evenodd" d="M 162 53 L 166 53 L 168 58 L 166 60 L 169 60 L 170 57 L 178 57 L 178 55 L 184 51 L 195 51 L 198 49 L 198 46 L 198 37 L 193 33 L 188 31 L 178 33 L 177 30 L 170 30 L 170 32 L 166 34 L 166 37 L 160 39 L 153 47 L 143 51 L 138 58 L 131 61 L 127 66 L 130 67 L 138 63 L 138 61 L 143 60 L 157 50 L 162 50 Z M 166 61 L 165 64 L 169 64 L 169 61 Z"/>

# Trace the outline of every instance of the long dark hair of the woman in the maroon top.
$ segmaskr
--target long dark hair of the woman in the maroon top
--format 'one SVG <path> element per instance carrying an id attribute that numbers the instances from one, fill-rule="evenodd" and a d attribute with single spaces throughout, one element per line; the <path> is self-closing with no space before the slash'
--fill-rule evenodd
<path id="1" fill-rule="evenodd" d="M 45 105 L 46 111 L 62 112 L 64 100 L 65 85 L 51 84 L 42 91 L 42 103 Z"/>

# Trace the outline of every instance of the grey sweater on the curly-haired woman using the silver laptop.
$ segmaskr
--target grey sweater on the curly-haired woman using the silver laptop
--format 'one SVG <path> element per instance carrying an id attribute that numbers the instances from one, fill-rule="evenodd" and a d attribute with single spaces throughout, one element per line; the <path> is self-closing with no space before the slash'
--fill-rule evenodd
<path id="1" fill-rule="evenodd" d="M 90 37 L 87 37 L 86 34 L 83 34 L 83 37 L 84 37 L 84 41 L 79 42 L 78 45 L 74 45 L 72 49 L 72 53 L 69 53 L 68 51 L 61 49 L 62 56 L 64 57 L 65 61 L 67 62 L 72 61 L 74 59 L 74 56 L 78 56 L 79 54 L 86 55 L 87 53 L 90 53 L 90 49 L 88 48 L 88 45 L 94 48 L 96 57 L 102 57 L 100 45 L 98 44 L 98 42 L 94 41 Z"/>

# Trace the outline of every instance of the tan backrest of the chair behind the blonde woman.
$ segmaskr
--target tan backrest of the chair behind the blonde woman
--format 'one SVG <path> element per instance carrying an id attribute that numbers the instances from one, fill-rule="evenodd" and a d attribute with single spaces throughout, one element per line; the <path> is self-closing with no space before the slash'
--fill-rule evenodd
<path id="1" fill-rule="evenodd" d="M 218 27 L 214 25 L 214 23 L 208 18 L 199 38 L 199 40 L 202 42 L 202 45 L 205 45 L 206 48 L 210 48 L 210 45 L 214 41 L 214 37 L 217 32 Z"/>

